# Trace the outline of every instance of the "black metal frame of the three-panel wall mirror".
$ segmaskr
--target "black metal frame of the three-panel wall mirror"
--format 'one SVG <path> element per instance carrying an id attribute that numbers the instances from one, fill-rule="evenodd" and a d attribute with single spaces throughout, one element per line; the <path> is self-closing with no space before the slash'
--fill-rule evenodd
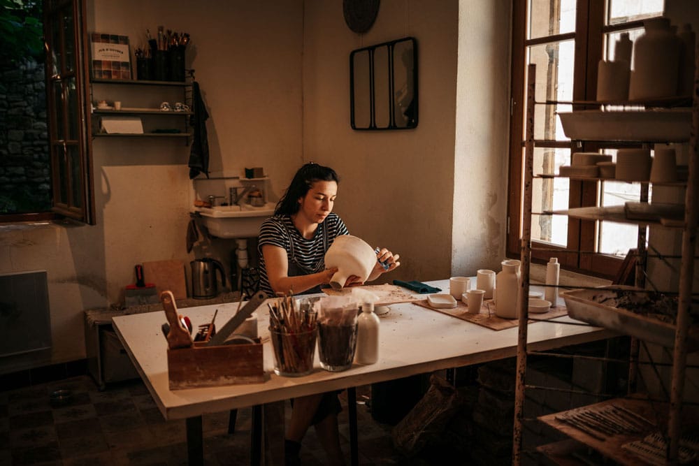
<path id="1" fill-rule="evenodd" d="M 412 54 L 413 54 L 413 66 L 412 66 L 412 82 L 413 82 L 413 100 L 412 100 L 412 114 L 414 117 L 408 120 L 407 126 L 397 126 L 395 108 L 396 101 L 394 95 L 394 48 L 397 43 L 402 43 L 405 41 L 412 42 Z M 389 89 L 389 126 L 378 128 L 376 126 L 376 105 L 375 105 L 375 72 L 374 72 L 374 52 L 377 48 L 386 47 L 388 50 L 388 89 Z M 370 106 L 370 121 L 369 126 L 366 128 L 358 128 L 355 124 L 354 115 L 354 55 L 361 52 L 368 52 L 369 54 L 369 106 Z M 356 131 L 383 131 L 391 129 L 415 129 L 417 128 L 418 122 L 418 82 L 417 82 L 417 41 L 414 37 L 404 37 L 401 39 L 396 39 L 395 41 L 384 42 L 376 45 L 370 45 L 369 47 L 364 47 L 356 50 L 352 50 L 349 54 L 349 118 L 352 129 Z"/>

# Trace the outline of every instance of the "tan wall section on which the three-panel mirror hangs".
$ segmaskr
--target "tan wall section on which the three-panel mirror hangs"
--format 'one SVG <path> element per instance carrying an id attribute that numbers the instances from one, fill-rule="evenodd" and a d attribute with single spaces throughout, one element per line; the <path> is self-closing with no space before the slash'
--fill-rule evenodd
<path id="1" fill-rule="evenodd" d="M 335 208 L 351 233 L 401 254 L 384 282 L 451 271 L 457 19 L 456 0 L 384 0 L 359 35 L 345 24 L 342 2 L 305 2 L 304 158 L 338 171 Z M 350 52 L 405 36 L 417 40 L 417 128 L 353 131 Z"/>

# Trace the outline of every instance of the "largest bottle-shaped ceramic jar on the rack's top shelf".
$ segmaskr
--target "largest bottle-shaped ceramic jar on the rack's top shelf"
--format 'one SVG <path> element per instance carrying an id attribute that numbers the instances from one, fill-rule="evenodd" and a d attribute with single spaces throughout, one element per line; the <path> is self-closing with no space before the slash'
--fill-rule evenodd
<path id="1" fill-rule="evenodd" d="M 663 99 L 677 96 L 682 42 L 670 20 L 657 17 L 643 22 L 644 34 L 633 44 L 628 98 Z"/>

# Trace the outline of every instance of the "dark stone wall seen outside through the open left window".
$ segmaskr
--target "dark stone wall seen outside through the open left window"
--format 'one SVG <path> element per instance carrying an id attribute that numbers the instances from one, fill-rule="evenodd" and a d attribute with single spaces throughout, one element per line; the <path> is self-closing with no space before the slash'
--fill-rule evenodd
<path id="1" fill-rule="evenodd" d="M 51 207 L 43 64 L 3 64 L 0 71 L 0 214 Z"/>

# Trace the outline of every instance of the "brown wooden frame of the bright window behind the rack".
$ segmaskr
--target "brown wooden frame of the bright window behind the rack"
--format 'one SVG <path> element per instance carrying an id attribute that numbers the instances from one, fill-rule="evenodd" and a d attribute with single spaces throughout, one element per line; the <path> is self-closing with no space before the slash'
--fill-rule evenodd
<path id="1" fill-rule="evenodd" d="M 521 251 L 521 216 L 524 177 L 524 130 L 526 115 L 526 51 L 531 45 L 562 40 L 575 40 L 573 71 L 573 101 L 594 101 L 597 89 L 598 62 L 604 56 L 605 35 L 642 27 L 643 20 L 605 25 L 605 0 L 577 0 L 575 31 L 551 36 L 526 38 L 528 0 L 513 0 L 512 64 L 510 95 L 510 153 L 507 202 L 506 254 L 519 257 Z M 536 141 L 537 147 L 570 148 L 572 152 L 593 152 L 599 143 L 576 141 Z M 605 143 L 604 147 L 614 145 Z M 628 146 L 627 146 L 628 147 Z M 569 180 L 568 207 L 586 207 L 598 202 L 598 182 Z M 568 217 L 568 240 L 563 247 L 532 240 L 531 260 L 545 263 L 557 256 L 561 265 L 577 272 L 613 279 L 624 258 L 595 252 L 597 249 L 595 221 Z"/>

